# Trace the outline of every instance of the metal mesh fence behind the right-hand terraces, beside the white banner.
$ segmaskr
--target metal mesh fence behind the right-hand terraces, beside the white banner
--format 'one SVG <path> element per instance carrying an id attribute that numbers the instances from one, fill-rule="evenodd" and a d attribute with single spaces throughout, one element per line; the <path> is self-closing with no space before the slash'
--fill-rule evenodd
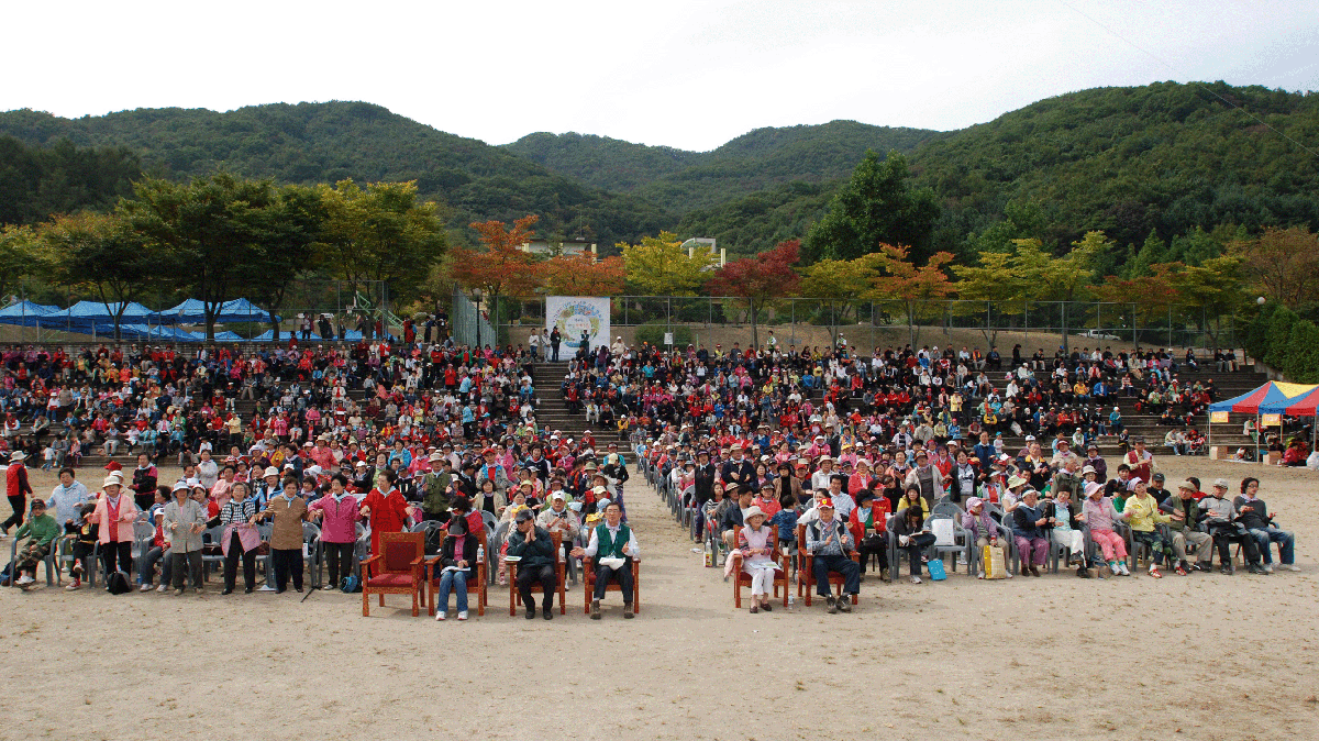
<path id="1" fill-rule="evenodd" d="M 456 301 L 455 301 L 456 307 Z M 488 302 L 501 344 L 526 344 L 545 326 L 545 297 L 500 297 Z M 1239 347 L 1232 316 L 1200 307 L 1109 302 L 996 303 L 985 301 L 838 301 L 785 298 L 757 305 L 754 331 L 748 302 L 736 297 L 617 295 L 611 326 L 625 341 L 699 341 L 707 347 L 753 340 L 764 345 L 773 332 L 781 347 L 848 344 L 861 351 L 914 345 L 1021 344 L 1068 352 L 1083 347 L 1196 348 Z M 711 340 L 711 341 L 706 341 Z"/>

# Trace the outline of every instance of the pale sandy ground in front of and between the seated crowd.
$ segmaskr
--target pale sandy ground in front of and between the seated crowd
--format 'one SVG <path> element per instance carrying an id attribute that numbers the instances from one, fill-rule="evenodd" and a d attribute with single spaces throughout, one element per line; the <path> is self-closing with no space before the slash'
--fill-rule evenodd
<path id="1" fill-rule="evenodd" d="M 1165 459 L 1170 481 L 1258 475 L 1303 571 L 871 580 L 852 614 L 753 616 L 634 479 L 633 621 L 617 593 L 587 620 L 579 588 L 550 622 L 510 618 L 495 588 L 467 624 L 402 597 L 369 618 L 338 592 L 222 597 L 214 579 L 185 597 L 0 589 L 0 738 L 1314 738 L 1315 477 L 1183 461 Z"/>

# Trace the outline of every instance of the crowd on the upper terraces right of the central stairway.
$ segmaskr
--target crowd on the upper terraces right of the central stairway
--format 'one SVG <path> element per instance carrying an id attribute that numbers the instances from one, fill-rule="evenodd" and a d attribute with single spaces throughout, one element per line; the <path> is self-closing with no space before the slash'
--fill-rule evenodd
<path id="1" fill-rule="evenodd" d="M 1231 352 L 1216 353 L 1219 367 L 1235 367 Z M 1008 363 L 1008 365 L 1005 365 Z M 1005 361 L 963 347 L 876 349 L 848 348 L 724 351 L 689 345 L 660 351 L 642 344 L 601 347 L 570 361 L 561 390 L 568 410 L 588 422 L 652 436 L 667 425 L 681 430 L 729 430 L 756 434 L 762 426 L 793 436 L 815 435 L 824 423 L 847 421 L 885 440 L 906 434 L 934 439 L 991 435 L 1067 436 L 1078 450 L 1103 435 L 1128 444 L 1119 397 L 1138 397 L 1148 410 L 1179 419 L 1178 452 L 1198 452 L 1203 439 L 1191 425 L 1215 398 L 1212 378 L 1178 378 L 1194 367 L 1187 351 L 1181 364 L 1166 352 L 1113 352 L 1111 348 L 1059 348 L 1046 359 L 1022 357 L 1020 345 Z M 991 378 L 1004 373 L 1002 386 Z M 818 400 L 818 401 L 816 401 Z"/>

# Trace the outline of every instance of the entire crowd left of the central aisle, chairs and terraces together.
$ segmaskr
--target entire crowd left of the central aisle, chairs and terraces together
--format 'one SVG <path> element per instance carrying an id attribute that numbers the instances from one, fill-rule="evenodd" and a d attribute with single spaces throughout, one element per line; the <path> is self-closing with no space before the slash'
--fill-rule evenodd
<path id="1" fill-rule="evenodd" d="M 69 589 L 82 588 L 88 570 L 99 568 L 107 584 L 116 574 L 136 575 L 140 591 L 182 595 L 202 588 L 202 556 L 214 551 L 223 556 L 228 595 L 240 563 L 244 587 L 253 591 L 257 555 L 268 554 L 273 574 L 264 588 L 284 592 L 291 580 L 301 592 L 302 523 L 310 521 L 319 526 L 326 588 L 334 588 L 353 574 L 356 548 L 379 552 L 381 533 L 425 522 L 447 530 L 458 513 L 459 531 L 443 537 L 488 530 L 492 550 L 508 555 L 528 547 L 528 534 L 534 543 L 562 531 L 568 556 L 591 563 L 599 591 L 625 584 L 630 571 L 612 567 L 615 558 L 630 564 L 640 551 L 627 531 L 628 472 L 617 443 L 538 427 L 530 360 L 522 348 L 476 352 L 451 341 L 315 348 L 294 341 L 187 356 L 170 348 L 88 348 L 73 359 L 61 349 L 13 348 L 5 398 L 16 402 L 8 409 L 16 418 L 30 422 L 44 413 L 24 409 L 47 410 L 75 444 L 86 440 L 120 458 L 140 452 L 127 469 L 112 458 L 98 492 L 77 480 L 77 458 L 51 460 L 61 484 L 49 498 L 34 497 L 26 465 L 44 443 L 40 435 L 59 431 L 11 436 L 5 475 L 13 514 L 3 533 L 18 526 L 24 547 L 7 578 L 30 587 L 37 566 L 62 547 L 71 556 Z M 240 400 L 252 400 L 249 421 L 239 418 Z M 125 426 L 132 443 L 106 448 Z M 169 443 L 145 435 L 157 426 L 170 430 Z M 137 427 L 144 435 L 133 438 Z M 160 465 L 174 456 L 182 475 L 160 480 Z M 467 547 L 459 541 L 458 555 Z M 437 542 L 434 550 L 442 548 Z M 458 562 L 472 566 L 470 558 Z M 524 559 L 518 587 L 541 575 L 536 566 L 534 555 Z M 459 587 L 467 568 L 437 574 L 459 592 L 459 618 L 466 618 Z M 545 616 L 553 595 L 545 591 Z M 630 617 L 630 591 L 624 595 Z M 525 589 L 524 603 L 534 604 Z M 600 614 L 596 605 L 592 617 Z"/>

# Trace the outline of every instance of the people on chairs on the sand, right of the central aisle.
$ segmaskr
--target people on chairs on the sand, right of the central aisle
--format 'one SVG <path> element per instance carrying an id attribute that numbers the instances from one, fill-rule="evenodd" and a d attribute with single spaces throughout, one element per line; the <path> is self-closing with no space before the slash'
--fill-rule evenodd
<path id="1" fill-rule="evenodd" d="M 1299 571 L 1294 535 L 1275 525 L 1258 479 L 1202 487 L 1191 477 L 1169 489 L 1141 439 L 1109 468 L 1095 447 L 1075 454 L 1066 439 L 1053 448 L 1028 440 L 1020 451 L 1002 451 L 981 432 L 968 448 L 918 439 L 900 447 L 848 426 L 826 427 L 810 442 L 781 431 L 768 438 L 768 444 L 735 434 L 683 439 L 670 427 L 636 443 L 657 485 L 681 493 L 692 510 L 694 537 L 723 554 L 725 572 L 753 576 L 753 612 L 768 605 L 766 568 L 797 566 L 794 555 L 768 567 L 765 559 L 778 552 L 827 556 L 814 559 L 813 576 L 830 612 L 849 609 L 830 593 L 830 572 L 844 579 L 844 596 L 856 595 L 872 558 L 888 581 L 900 570 L 889 554 L 905 552 L 909 578 L 919 584 L 935 545 L 954 546 L 968 568 L 980 563 L 981 579 L 984 548 L 1000 548 L 1002 563 L 1018 560 L 1020 576 L 1041 576 L 1055 547 L 1080 578 L 1129 575 L 1133 548 L 1149 551 L 1154 578 L 1165 568 L 1182 576 L 1210 571 L 1215 551 L 1220 571 L 1231 575 L 1232 546 L 1252 574 L 1273 574 L 1273 546 L 1282 568 Z M 794 452 L 776 460 L 785 444 Z M 778 543 L 765 543 L 769 527 L 777 527 Z M 852 554 L 859 558 L 844 558 Z"/>

